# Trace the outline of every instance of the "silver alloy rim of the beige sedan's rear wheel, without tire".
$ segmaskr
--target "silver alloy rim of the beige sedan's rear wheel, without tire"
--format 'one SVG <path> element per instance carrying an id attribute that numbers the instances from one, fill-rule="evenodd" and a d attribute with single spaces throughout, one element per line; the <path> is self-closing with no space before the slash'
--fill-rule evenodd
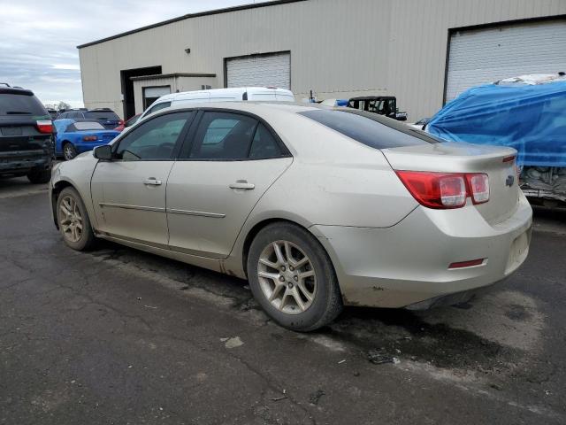
<path id="1" fill-rule="evenodd" d="M 257 264 L 265 298 L 280 312 L 299 314 L 317 295 L 317 275 L 309 257 L 296 244 L 275 241 L 264 248 Z"/>

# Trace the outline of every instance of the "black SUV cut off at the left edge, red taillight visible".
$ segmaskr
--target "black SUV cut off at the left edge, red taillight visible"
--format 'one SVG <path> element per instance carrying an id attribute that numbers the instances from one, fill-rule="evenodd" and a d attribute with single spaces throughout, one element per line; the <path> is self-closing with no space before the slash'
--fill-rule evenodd
<path id="1" fill-rule="evenodd" d="M 39 99 L 31 90 L 0 83 L 0 176 L 49 182 L 52 146 L 51 117 Z"/>

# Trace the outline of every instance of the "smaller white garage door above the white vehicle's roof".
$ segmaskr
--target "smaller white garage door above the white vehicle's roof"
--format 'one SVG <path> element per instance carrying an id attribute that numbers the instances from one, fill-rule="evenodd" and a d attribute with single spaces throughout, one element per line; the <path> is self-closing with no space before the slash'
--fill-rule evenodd
<path id="1" fill-rule="evenodd" d="M 226 60 L 228 87 L 278 87 L 291 89 L 291 54 L 249 56 Z"/>

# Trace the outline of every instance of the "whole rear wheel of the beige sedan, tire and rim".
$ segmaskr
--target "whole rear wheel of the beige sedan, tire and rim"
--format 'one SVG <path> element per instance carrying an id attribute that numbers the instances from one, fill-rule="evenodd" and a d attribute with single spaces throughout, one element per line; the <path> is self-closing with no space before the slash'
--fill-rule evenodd
<path id="1" fill-rule="evenodd" d="M 338 279 L 324 248 L 291 223 L 259 231 L 249 248 L 248 279 L 265 313 L 284 328 L 315 330 L 342 309 Z"/>

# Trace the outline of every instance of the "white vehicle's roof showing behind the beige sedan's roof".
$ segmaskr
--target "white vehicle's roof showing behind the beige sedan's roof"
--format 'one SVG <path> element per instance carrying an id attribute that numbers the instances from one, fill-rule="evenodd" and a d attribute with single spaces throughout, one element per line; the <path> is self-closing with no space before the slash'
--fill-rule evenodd
<path id="1" fill-rule="evenodd" d="M 203 102 L 238 102 L 242 100 L 294 102 L 294 95 L 291 90 L 274 87 L 239 87 L 233 89 L 182 91 L 159 97 L 142 113 L 140 120 L 147 117 L 150 113 L 172 105 Z"/>

